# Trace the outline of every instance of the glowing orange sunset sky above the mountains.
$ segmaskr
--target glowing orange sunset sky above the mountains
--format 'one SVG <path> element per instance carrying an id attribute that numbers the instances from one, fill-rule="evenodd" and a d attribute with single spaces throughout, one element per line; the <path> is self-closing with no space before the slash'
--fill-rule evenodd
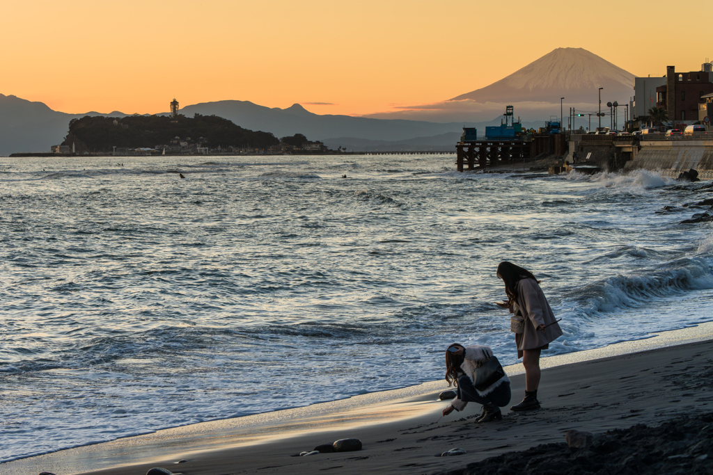
<path id="1" fill-rule="evenodd" d="M 68 113 L 160 113 L 175 95 L 361 115 L 467 93 L 558 47 L 635 75 L 713 56 L 689 33 L 657 33 L 662 16 L 668 32 L 696 28 L 668 1 L 580 4 L 4 0 L 0 93 Z"/>

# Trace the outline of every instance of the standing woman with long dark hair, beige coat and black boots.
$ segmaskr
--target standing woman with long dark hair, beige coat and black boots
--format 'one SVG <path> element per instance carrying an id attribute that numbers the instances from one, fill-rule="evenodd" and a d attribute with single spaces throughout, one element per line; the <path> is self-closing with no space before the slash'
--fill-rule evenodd
<path id="1" fill-rule="evenodd" d="M 511 330 L 515 332 L 518 358 L 525 367 L 525 399 L 515 404 L 513 411 L 540 409 L 537 390 L 540 385 L 540 352 L 547 350 L 550 342 L 562 335 L 550 304 L 530 271 L 510 262 L 498 265 L 498 277 L 505 283 L 508 300 L 497 302 L 514 313 Z M 518 323 L 522 320 L 522 323 Z"/>

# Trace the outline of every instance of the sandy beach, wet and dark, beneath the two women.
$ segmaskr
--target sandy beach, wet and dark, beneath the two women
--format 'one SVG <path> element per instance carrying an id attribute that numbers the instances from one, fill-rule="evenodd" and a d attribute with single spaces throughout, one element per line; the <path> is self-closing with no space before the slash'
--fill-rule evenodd
<path id="1" fill-rule="evenodd" d="M 0 474 L 145 474 L 160 466 L 187 475 L 423 473 L 538 444 L 562 443 L 570 429 L 602 434 L 657 425 L 713 410 L 713 323 L 656 338 L 543 360 L 543 409 L 476 424 L 478 404 L 438 421 L 445 382 L 378 392 L 237 419 L 167 429 L 140 437 L 58 451 L 0 465 Z M 609 355 L 602 357 L 602 355 Z M 523 394 L 511 375 L 513 403 Z M 356 437 L 361 451 L 295 456 L 319 444 Z M 441 457 L 450 449 L 467 451 Z M 713 454 L 711 454 L 713 456 Z"/>

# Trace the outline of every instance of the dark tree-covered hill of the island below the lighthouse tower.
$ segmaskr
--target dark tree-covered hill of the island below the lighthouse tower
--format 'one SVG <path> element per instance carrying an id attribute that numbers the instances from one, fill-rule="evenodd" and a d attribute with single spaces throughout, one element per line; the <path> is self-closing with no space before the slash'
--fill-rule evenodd
<path id="1" fill-rule="evenodd" d="M 253 147 L 265 149 L 279 140 L 270 132 L 253 132 L 215 115 L 131 115 L 125 118 L 89 117 L 69 122 L 62 145 L 75 145 L 77 152 L 110 152 L 112 147 L 153 148 L 168 144 L 174 137 L 190 138 L 204 147 Z"/>

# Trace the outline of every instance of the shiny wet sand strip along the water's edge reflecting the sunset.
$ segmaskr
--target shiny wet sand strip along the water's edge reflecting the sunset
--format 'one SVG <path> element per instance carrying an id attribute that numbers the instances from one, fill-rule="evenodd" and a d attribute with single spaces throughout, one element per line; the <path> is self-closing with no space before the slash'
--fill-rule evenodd
<path id="1" fill-rule="evenodd" d="M 558 385 L 566 384 L 566 381 L 559 382 L 560 378 L 555 378 L 555 373 L 570 372 L 573 367 L 590 365 L 593 362 L 601 363 L 612 359 L 625 360 L 632 357 L 632 355 L 643 355 L 652 352 L 661 353 L 663 349 L 680 349 L 690 345 L 701 344 L 701 342 L 710 343 L 713 340 L 713 323 L 701 323 L 694 327 L 655 333 L 655 335 L 643 340 L 615 343 L 594 350 L 583 350 L 543 358 L 541 364 L 543 367 L 543 392 L 550 391 L 548 386 L 552 384 L 554 379 L 558 380 Z M 523 391 L 521 387 L 523 385 L 522 365 L 518 363 L 508 366 L 506 371 L 508 375 L 513 377 L 513 401 L 511 404 L 516 404 L 519 401 L 520 393 Z M 577 373 L 575 370 L 575 374 Z M 309 450 L 318 444 L 333 442 L 336 439 L 359 437 L 359 435 L 353 435 L 356 432 L 360 434 L 366 432 L 367 435 L 375 432 L 384 434 L 384 437 L 381 437 L 383 439 L 399 439 L 399 437 L 394 437 L 398 432 L 398 429 L 395 429 L 396 425 L 411 423 L 420 425 L 434 424 L 440 415 L 440 410 L 446 405 L 446 402 L 437 401 L 438 392 L 444 389 L 446 389 L 446 382 L 438 380 L 399 390 L 372 392 L 343 400 L 312 404 L 307 407 L 201 422 L 173 429 L 162 429 L 150 434 L 125 437 L 111 442 L 85 445 L 7 461 L 0 464 L 0 474 L 14 475 L 30 474 L 33 471 L 37 473 L 51 471 L 57 475 L 64 475 L 95 473 L 101 470 L 103 473 L 120 475 L 145 473 L 143 467 L 146 464 L 164 466 L 173 471 L 188 471 L 188 465 L 181 464 L 180 469 L 178 466 L 171 465 L 180 459 L 191 459 L 189 462 L 195 460 L 196 463 L 205 461 L 205 459 L 217 459 L 214 464 L 215 471 L 207 469 L 207 471 L 190 471 L 190 473 L 225 474 L 227 472 L 225 467 L 222 467 L 220 460 L 233 459 L 235 456 L 239 456 L 241 459 L 246 457 L 247 459 L 252 459 L 251 456 L 246 455 L 247 452 L 261 453 L 267 451 L 267 453 L 279 453 L 281 456 L 294 455 L 299 451 Z M 557 397 L 559 396 L 557 395 Z M 557 397 L 555 397 L 555 400 Z M 550 402 L 549 399 L 549 397 L 546 398 L 548 402 Z M 543 407 L 548 407 L 548 402 L 544 402 Z M 479 409 L 478 404 L 469 404 L 466 412 L 462 414 L 466 416 L 466 419 L 461 419 L 461 423 L 466 422 L 467 417 L 471 417 L 471 413 L 475 413 L 476 409 Z M 542 412 L 538 411 L 537 413 Z M 508 413 L 503 411 L 503 414 Z M 457 415 L 461 416 L 461 414 Z M 520 419 L 520 414 L 516 415 Z M 448 429 L 455 419 L 455 413 L 444 418 L 437 429 L 443 427 Z M 468 424 L 472 427 L 479 425 L 473 424 L 473 422 L 468 422 Z M 486 425 L 491 426 L 491 424 Z M 365 450 L 373 449 L 377 445 L 374 440 L 366 439 L 364 436 L 360 438 L 364 442 Z M 369 438 L 373 439 L 373 437 Z M 312 444 L 313 440 L 320 442 Z M 284 446 L 285 449 L 271 449 L 275 444 Z M 389 445 L 388 443 L 383 444 L 384 447 Z M 290 447 L 290 449 L 287 449 L 287 447 Z M 508 445 L 508 447 L 511 447 L 511 445 Z M 327 457 L 344 457 L 347 455 L 359 456 L 361 454 L 364 454 L 364 451 L 354 454 L 320 454 L 317 458 L 325 459 Z M 315 459 L 315 457 L 310 459 Z M 453 457 L 448 459 L 453 459 Z M 473 461 L 473 459 L 466 461 L 461 457 L 456 457 L 456 459 L 461 461 L 462 464 Z M 295 464 L 304 460 L 306 459 L 288 459 L 288 461 L 292 461 Z M 258 457 L 257 461 L 260 461 L 260 457 Z M 255 460 L 250 462 L 249 465 L 254 462 Z M 245 463 L 245 460 L 243 460 L 241 465 Z M 299 463 L 297 465 L 304 464 Z M 142 468 L 138 469 L 139 466 Z M 222 470 L 220 469 L 221 467 Z M 255 467 L 256 470 L 258 468 L 260 467 Z M 264 469 L 265 467 L 262 468 Z M 451 468 L 455 468 L 455 466 L 451 466 Z M 382 467 L 382 469 L 386 470 L 386 467 Z M 259 473 L 270 472 L 261 470 Z"/>

